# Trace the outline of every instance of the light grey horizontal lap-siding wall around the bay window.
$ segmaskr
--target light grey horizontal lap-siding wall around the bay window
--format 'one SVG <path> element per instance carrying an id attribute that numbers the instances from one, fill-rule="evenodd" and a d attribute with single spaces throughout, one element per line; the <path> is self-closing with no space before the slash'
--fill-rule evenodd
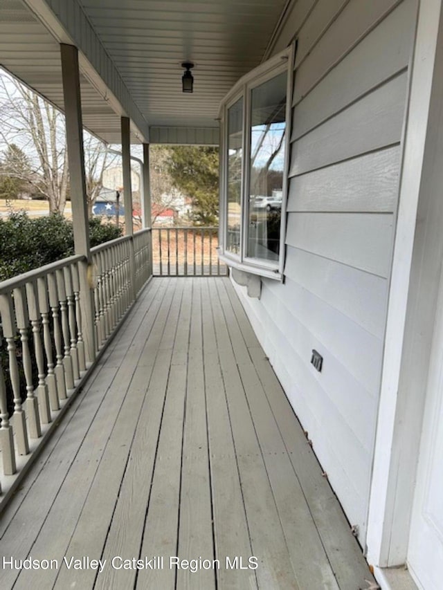
<path id="1" fill-rule="evenodd" d="M 364 546 L 417 0 L 297 5 L 284 283 L 236 289 Z"/>

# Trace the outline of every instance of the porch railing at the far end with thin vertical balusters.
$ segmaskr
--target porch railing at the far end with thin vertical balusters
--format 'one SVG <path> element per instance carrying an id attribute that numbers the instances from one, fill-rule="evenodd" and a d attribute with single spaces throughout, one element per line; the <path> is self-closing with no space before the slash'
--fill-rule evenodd
<path id="1" fill-rule="evenodd" d="M 219 277 L 228 268 L 218 256 L 217 227 L 152 228 L 153 274 Z"/>

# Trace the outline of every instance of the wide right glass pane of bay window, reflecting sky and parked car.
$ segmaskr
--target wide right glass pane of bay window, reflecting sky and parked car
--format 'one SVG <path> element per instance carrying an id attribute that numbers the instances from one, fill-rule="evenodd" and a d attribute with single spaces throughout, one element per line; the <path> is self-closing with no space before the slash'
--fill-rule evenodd
<path id="1" fill-rule="evenodd" d="M 278 261 L 282 212 L 287 73 L 251 91 L 247 256 Z"/>

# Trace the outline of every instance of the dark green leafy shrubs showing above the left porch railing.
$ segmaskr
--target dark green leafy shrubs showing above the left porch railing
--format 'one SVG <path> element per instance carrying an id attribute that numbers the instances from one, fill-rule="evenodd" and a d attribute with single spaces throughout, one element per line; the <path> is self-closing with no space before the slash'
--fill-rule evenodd
<path id="1" fill-rule="evenodd" d="M 121 228 L 112 223 L 98 218 L 89 221 L 91 247 L 121 234 Z M 62 215 L 30 219 L 25 212 L 15 212 L 0 219 L 0 281 L 73 254 L 72 223 Z"/>

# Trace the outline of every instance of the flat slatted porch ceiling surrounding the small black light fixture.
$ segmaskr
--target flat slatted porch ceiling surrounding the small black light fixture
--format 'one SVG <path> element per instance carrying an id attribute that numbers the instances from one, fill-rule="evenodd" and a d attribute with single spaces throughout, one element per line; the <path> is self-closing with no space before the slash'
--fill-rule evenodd
<path id="1" fill-rule="evenodd" d="M 217 127 L 219 101 L 260 64 L 285 0 L 81 0 L 150 125 Z M 195 64 L 194 93 L 181 91 Z"/>

